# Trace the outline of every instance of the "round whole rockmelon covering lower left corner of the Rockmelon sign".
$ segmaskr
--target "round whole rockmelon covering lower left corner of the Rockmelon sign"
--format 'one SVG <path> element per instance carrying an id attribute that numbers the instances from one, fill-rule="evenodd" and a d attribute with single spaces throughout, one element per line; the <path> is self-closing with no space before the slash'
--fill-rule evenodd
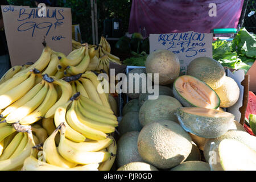
<path id="1" fill-rule="evenodd" d="M 159 85 L 174 82 L 180 73 L 180 61 L 171 51 L 159 49 L 151 52 L 145 62 L 146 72 L 159 74 Z M 154 76 L 152 76 L 154 81 Z"/>

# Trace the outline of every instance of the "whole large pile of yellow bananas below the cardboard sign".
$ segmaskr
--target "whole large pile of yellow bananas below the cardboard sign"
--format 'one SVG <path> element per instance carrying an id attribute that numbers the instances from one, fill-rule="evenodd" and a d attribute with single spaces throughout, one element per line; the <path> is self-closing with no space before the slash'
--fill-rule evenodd
<path id="1" fill-rule="evenodd" d="M 43 46 L 35 63 L 0 80 L 0 170 L 110 170 L 118 121 L 109 88 L 87 70 L 98 48 L 65 56 Z"/>

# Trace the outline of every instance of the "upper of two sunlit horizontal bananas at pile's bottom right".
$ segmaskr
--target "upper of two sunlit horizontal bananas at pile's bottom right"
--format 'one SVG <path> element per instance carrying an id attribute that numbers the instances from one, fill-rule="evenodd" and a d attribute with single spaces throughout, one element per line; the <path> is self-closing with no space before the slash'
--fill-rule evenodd
<path id="1" fill-rule="evenodd" d="M 63 138 L 65 140 L 65 143 L 67 143 L 72 148 L 76 148 L 79 151 L 84 152 L 97 152 L 100 151 L 106 147 L 109 147 L 113 143 L 112 138 L 106 138 L 104 140 L 90 140 L 88 142 L 72 142 L 71 140 L 67 138 Z"/>

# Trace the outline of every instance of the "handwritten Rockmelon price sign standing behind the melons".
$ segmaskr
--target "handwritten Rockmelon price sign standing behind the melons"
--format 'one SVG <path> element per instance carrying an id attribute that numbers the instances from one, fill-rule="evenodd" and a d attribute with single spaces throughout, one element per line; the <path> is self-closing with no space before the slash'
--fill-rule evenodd
<path id="1" fill-rule="evenodd" d="M 188 64 L 196 57 L 212 57 L 213 34 L 182 32 L 170 34 L 150 34 L 150 52 L 167 49 L 180 60 L 181 74 L 185 74 Z"/>

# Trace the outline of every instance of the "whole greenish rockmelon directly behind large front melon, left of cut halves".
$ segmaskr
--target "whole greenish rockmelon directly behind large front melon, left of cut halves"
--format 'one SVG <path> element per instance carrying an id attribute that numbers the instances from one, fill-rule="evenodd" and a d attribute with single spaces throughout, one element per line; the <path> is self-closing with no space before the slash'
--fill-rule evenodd
<path id="1" fill-rule="evenodd" d="M 171 96 L 159 96 L 156 100 L 146 100 L 139 109 L 139 122 L 142 126 L 158 120 L 171 120 L 177 122 L 174 114 L 182 105 Z"/>

